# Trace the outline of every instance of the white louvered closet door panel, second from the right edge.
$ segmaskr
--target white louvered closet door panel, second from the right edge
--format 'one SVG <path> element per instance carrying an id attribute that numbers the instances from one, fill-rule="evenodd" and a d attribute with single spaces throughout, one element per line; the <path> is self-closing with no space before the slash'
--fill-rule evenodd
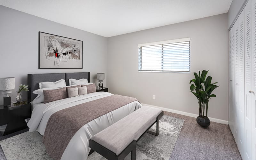
<path id="1" fill-rule="evenodd" d="M 252 0 L 245 6 L 244 159 L 252 159 Z"/>

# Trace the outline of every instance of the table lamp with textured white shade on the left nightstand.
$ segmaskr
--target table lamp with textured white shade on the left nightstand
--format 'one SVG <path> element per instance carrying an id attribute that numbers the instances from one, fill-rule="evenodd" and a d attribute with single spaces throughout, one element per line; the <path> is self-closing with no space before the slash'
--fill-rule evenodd
<path id="1" fill-rule="evenodd" d="M 11 105 L 11 97 L 8 94 L 11 94 L 12 89 L 15 88 L 15 78 L 14 77 L 8 77 L 8 78 L 0 78 L 0 90 L 2 91 L 2 94 L 5 94 L 3 97 L 3 105 L 9 106 Z"/>

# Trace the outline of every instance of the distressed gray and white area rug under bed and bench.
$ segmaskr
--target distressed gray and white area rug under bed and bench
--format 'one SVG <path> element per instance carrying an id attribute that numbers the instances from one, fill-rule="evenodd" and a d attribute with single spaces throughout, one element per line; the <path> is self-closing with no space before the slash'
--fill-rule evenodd
<path id="1" fill-rule="evenodd" d="M 164 115 L 159 121 L 159 136 L 146 133 L 136 144 L 136 159 L 169 159 L 172 149 L 178 139 L 184 120 Z M 156 125 L 151 128 L 156 131 Z M 0 141 L 7 160 L 31 159 L 50 160 L 46 153 L 43 137 L 38 132 L 24 132 Z M 130 159 L 128 155 L 125 160 Z M 102 156 L 94 152 L 88 160 L 103 160 Z"/>

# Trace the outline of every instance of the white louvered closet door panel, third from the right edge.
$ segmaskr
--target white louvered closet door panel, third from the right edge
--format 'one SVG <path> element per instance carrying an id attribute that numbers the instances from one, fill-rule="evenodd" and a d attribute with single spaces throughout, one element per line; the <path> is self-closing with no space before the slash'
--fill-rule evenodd
<path id="1" fill-rule="evenodd" d="M 237 108 L 237 147 L 242 157 L 244 157 L 244 10 L 239 15 L 238 25 L 238 108 Z M 236 74 L 235 74 L 236 75 Z"/>

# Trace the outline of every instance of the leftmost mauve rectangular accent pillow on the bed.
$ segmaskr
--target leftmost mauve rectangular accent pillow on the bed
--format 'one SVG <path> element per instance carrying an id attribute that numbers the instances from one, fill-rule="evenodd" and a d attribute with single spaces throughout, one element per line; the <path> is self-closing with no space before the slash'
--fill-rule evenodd
<path id="1" fill-rule="evenodd" d="M 66 87 L 56 90 L 44 90 L 44 103 L 49 103 L 55 100 L 62 100 L 67 98 Z"/>

